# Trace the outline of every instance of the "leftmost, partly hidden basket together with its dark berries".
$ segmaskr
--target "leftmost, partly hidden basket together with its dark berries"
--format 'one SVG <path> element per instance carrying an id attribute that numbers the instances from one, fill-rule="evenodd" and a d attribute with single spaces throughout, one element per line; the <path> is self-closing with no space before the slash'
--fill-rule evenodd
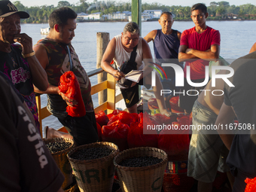
<path id="1" fill-rule="evenodd" d="M 72 167 L 69 163 L 67 154 L 74 148 L 74 141 L 67 138 L 44 139 L 44 143 L 50 151 L 57 166 L 65 176 L 62 188 L 65 189 L 72 184 Z"/>

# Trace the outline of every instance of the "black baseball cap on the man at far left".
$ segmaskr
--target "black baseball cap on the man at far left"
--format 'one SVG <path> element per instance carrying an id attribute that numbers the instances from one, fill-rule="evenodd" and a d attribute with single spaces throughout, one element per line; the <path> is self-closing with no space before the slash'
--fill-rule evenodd
<path id="1" fill-rule="evenodd" d="M 10 1 L 0 1 L 0 18 L 8 17 L 11 14 L 19 14 L 21 19 L 29 18 L 29 14 L 25 11 L 18 11 Z"/>

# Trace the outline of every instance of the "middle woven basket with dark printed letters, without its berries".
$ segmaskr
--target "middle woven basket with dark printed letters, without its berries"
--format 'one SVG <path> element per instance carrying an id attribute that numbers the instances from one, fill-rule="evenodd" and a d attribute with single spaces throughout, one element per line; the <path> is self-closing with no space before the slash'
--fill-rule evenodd
<path id="1" fill-rule="evenodd" d="M 75 160 L 70 156 L 84 148 L 111 148 L 113 153 L 95 160 Z M 81 192 L 111 192 L 114 181 L 113 159 L 118 154 L 117 145 L 111 142 L 95 142 L 81 145 L 69 152 L 68 158 L 75 172 Z"/>

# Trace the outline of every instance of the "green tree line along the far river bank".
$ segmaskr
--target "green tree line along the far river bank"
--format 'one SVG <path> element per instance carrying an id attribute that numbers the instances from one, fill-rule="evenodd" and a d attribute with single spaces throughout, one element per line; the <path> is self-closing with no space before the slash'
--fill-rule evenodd
<path id="1" fill-rule="evenodd" d="M 23 23 L 47 23 L 50 13 L 56 8 L 69 7 L 76 13 L 93 14 L 101 12 L 102 14 L 111 14 L 117 11 L 131 11 L 131 2 L 111 2 L 111 1 L 97 1 L 87 3 L 86 0 L 80 0 L 76 5 L 70 4 L 67 1 L 60 1 L 58 5 L 43 5 L 35 7 L 26 7 L 20 1 L 14 2 L 14 5 L 19 11 L 26 11 L 30 17 L 22 20 Z M 229 2 L 211 2 L 207 7 L 209 12 L 209 20 L 227 20 L 237 19 L 254 20 L 256 19 L 256 6 L 251 4 L 246 5 L 230 5 Z M 162 10 L 171 11 L 175 15 L 175 20 L 190 20 L 189 6 L 167 6 L 160 3 L 143 3 L 142 12 L 145 10 Z"/>

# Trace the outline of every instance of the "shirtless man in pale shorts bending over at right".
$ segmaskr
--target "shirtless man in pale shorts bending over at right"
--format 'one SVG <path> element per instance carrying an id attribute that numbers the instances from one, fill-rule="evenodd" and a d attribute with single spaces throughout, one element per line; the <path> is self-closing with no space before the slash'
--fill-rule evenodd
<path id="1" fill-rule="evenodd" d="M 224 74 L 224 70 L 218 74 Z M 215 90 L 214 94 L 212 91 Z M 218 90 L 218 91 L 217 91 Z M 221 105 L 224 101 L 224 81 L 216 79 L 215 87 L 212 80 L 194 103 L 193 125 L 214 125 Z M 212 182 L 215 180 L 217 170 L 228 172 L 231 186 L 233 176 L 225 163 L 228 150 L 216 130 L 193 130 L 188 154 L 187 175 L 198 181 L 198 191 L 212 191 Z"/>

